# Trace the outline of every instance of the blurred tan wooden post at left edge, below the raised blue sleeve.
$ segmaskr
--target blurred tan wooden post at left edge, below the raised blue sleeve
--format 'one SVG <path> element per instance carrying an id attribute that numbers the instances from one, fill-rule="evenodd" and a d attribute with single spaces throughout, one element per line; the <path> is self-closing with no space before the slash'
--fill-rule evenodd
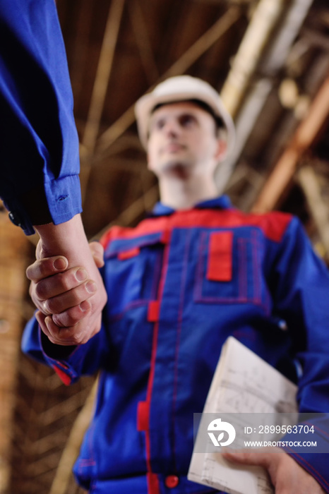
<path id="1" fill-rule="evenodd" d="M 28 240 L 0 212 L 0 494 L 8 492 L 11 478 L 10 447 L 16 376 L 23 320 L 20 305 L 25 279 Z"/>

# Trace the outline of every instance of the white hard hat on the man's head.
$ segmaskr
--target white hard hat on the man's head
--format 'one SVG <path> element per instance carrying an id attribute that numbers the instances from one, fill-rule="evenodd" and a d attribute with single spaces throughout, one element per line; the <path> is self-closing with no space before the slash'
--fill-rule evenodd
<path id="1" fill-rule="evenodd" d="M 152 92 L 140 97 L 136 102 L 135 113 L 140 142 L 145 149 L 148 145 L 148 131 L 150 116 L 157 104 L 179 102 L 186 100 L 199 100 L 210 107 L 215 116 L 222 119 L 227 133 L 227 155 L 234 145 L 234 123 L 229 112 L 225 109 L 220 95 L 204 80 L 191 76 L 171 77 L 155 87 Z"/>

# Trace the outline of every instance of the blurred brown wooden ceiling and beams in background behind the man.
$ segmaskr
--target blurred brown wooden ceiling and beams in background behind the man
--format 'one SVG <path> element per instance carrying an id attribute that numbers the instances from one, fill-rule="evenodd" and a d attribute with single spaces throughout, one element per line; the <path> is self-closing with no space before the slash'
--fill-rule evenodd
<path id="1" fill-rule="evenodd" d="M 133 104 L 158 81 L 188 73 L 222 92 L 237 123 L 225 188 L 234 205 L 294 212 L 328 260 L 328 0 L 57 0 L 57 6 L 88 236 L 112 222 L 136 224 L 157 200 Z M 220 171 L 216 179 L 220 188 Z M 2 239 L 12 238 L 14 227 L 7 226 L 0 224 Z M 10 256 L 4 248 L 1 276 L 9 261 L 13 267 L 23 261 L 23 270 L 32 255 L 26 245 Z M 66 388 L 50 370 L 17 358 L 32 309 L 22 277 L 12 295 L 9 286 L 5 280 L 0 293 L 0 341 L 15 358 L 4 369 L 11 384 L 0 388 L 0 494 L 80 494 L 66 475 L 66 447 L 92 380 Z M 6 321 L 16 330 L 8 332 Z M 73 431 L 76 444 L 80 426 Z M 68 456 L 60 463 L 64 451 Z"/>

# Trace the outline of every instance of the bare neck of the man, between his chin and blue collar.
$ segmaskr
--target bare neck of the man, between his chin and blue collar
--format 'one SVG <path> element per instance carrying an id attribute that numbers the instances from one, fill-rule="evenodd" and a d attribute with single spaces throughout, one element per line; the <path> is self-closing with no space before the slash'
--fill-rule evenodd
<path id="1" fill-rule="evenodd" d="M 179 177 L 162 177 L 159 181 L 162 204 L 174 210 L 190 209 L 203 200 L 216 198 L 217 188 L 213 178 L 201 179 L 200 176 L 180 179 Z"/>

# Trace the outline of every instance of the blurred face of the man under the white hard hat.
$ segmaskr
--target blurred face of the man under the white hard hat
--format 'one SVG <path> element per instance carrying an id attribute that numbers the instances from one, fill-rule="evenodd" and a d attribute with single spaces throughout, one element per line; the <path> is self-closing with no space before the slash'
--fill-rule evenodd
<path id="1" fill-rule="evenodd" d="M 211 174 L 225 142 L 217 138 L 213 117 L 191 102 L 166 104 L 150 119 L 148 167 L 164 174 Z"/>

